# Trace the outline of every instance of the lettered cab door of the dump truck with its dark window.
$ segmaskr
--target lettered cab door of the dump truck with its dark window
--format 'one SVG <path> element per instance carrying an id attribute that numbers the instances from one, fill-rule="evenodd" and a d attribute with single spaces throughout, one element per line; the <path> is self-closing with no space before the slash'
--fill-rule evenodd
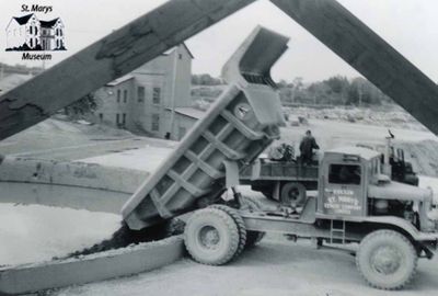
<path id="1" fill-rule="evenodd" d="M 360 163 L 327 163 L 324 170 L 320 212 L 336 217 L 365 215 L 365 168 Z"/>

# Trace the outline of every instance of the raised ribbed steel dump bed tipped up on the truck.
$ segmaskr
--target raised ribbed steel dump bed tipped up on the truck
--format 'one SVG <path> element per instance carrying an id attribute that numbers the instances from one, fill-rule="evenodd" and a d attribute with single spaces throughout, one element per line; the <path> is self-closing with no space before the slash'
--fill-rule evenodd
<path id="1" fill-rule="evenodd" d="M 230 84 L 173 153 L 123 207 L 131 229 L 141 229 L 219 197 L 227 181 L 274 139 L 284 117 L 269 71 L 288 38 L 257 27 L 226 64 Z M 227 177 L 227 178 L 226 178 Z"/>

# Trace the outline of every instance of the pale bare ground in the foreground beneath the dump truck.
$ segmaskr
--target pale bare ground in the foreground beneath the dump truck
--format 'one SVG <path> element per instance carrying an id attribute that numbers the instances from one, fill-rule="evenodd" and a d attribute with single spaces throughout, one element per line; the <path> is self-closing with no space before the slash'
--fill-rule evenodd
<path id="1" fill-rule="evenodd" d="M 414 282 L 402 292 L 368 287 L 355 259 L 341 251 L 316 250 L 308 241 L 264 239 L 223 266 L 207 266 L 189 259 L 131 277 L 69 287 L 57 296 L 435 296 L 438 260 L 422 260 Z"/>

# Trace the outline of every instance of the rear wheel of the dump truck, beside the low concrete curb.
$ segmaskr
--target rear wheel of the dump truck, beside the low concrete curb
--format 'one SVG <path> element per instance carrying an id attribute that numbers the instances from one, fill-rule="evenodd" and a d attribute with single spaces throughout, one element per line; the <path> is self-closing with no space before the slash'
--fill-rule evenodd
<path id="1" fill-rule="evenodd" d="M 187 220 L 184 243 L 192 258 L 199 263 L 221 265 L 229 262 L 239 242 L 239 228 L 222 209 L 199 209 Z"/>

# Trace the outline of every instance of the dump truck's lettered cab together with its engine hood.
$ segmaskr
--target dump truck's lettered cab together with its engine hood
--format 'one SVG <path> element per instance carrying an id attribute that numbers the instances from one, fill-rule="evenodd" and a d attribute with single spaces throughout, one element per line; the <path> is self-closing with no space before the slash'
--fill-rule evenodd
<path id="1" fill-rule="evenodd" d="M 361 147 L 328 150 L 320 164 L 315 218 L 408 221 L 418 231 L 436 231 L 429 219 L 433 191 L 392 181 L 382 173 L 381 155 Z"/>

